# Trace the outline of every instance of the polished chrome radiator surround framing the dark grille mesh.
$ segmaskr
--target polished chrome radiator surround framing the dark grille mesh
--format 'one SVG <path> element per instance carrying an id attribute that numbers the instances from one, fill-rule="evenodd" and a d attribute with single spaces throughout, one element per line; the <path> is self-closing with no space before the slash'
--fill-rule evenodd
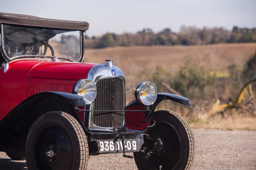
<path id="1" fill-rule="evenodd" d="M 112 75 L 112 69 L 116 71 L 116 76 Z M 105 64 L 98 64 L 91 68 L 91 70 L 88 73 L 87 79 L 92 80 L 95 85 L 96 83 L 104 78 L 118 78 L 123 82 L 123 92 L 124 92 L 124 101 L 123 101 L 123 110 L 125 110 L 125 77 L 123 74 L 123 71 L 121 71 L 118 67 L 114 66 L 112 68 L 105 66 Z M 97 86 L 96 86 L 97 88 Z M 90 110 L 93 110 L 93 102 L 90 105 Z M 125 118 L 125 112 L 124 112 L 124 119 L 123 119 L 123 125 L 121 127 L 98 127 L 95 126 L 92 122 L 92 111 L 89 113 L 89 122 L 88 122 L 88 129 L 93 131 L 121 131 L 126 129 L 126 118 Z"/>

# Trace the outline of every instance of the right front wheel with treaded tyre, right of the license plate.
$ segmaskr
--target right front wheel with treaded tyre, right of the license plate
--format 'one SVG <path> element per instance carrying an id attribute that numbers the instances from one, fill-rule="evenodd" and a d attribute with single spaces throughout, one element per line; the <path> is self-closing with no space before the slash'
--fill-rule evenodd
<path id="1" fill-rule="evenodd" d="M 167 110 L 156 111 L 145 134 L 149 134 L 151 139 L 160 137 L 162 143 L 168 146 L 168 150 L 156 151 L 148 158 L 142 158 L 141 154 L 134 153 L 134 160 L 139 170 L 191 168 L 195 156 L 195 142 L 192 130 L 183 117 Z"/>

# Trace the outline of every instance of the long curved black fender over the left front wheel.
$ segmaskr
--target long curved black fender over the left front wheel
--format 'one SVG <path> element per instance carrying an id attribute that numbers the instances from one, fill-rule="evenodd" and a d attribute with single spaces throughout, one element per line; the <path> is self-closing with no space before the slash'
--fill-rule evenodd
<path id="1" fill-rule="evenodd" d="M 69 113 L 83 127 L 84 125 L 77 115 L 74 106 L 84 106 L 85 104 L 83 97 L 67 92 L 40 92 L 34 94 L 12 109 L 1 120 L 0 146 L 15 128 L 19 127 L 19 129 L 24 130 L 30 128 L 37 117 L 49 111 L 59 110 Z"/>

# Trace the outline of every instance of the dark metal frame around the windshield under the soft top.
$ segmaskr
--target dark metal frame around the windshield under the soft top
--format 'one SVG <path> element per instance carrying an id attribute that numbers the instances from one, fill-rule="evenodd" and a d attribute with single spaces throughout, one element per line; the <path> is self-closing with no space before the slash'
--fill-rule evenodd
<path id="1" fill-rule="evenodd" d="M 9 60 L 15 60 L 17 58 L 36 58 L 36 57 L 40 57 L 40 58 L 52 58 L 52 57 L 59 57 L 59 59 L 62 60 L 68 60 L 68 61 L 72 61 L 72 62 L 82 62 L 84 60 L 84 30 L 74 30 L 74 29 L 65 29 L 65 30 L 70 30 L 70 31 L 80 31 L 80 56 L 78 58 L 78 61 L 73 61 L 72 59 L 66 58 L 66 57 L 60 57 L 60 56 L 46 56 L 46 55 L 19 55 L 19 56 L 15 56 L 15 57 L 9 57 L 6 53 L 5 53 L 5 49 L 4 49 L 4 30 L 3 30 L 3 24 L 5 23 L 0 23 L 1 24 L 1 33 L 0 33 L 0 45 L 1 45 L 1 54 L 2 57 L 4 58 L 5 61 Z M 10 26 L 19 26 L 19 25 L 13 25 L 13 24 L 5 24 L 5 25 L 10 25 Z M 21 26 L 24 27 L 24 26 Z M 58 28 L 47 28 L 47 27 L 36 27 L 36 26 L 25 26 L 25 27 L 29 27 L 29 28 L 36 28 L 36 29 L 58 29 Z M 59 29 L 59 30 L 63 30 L 63 29 Z"/>

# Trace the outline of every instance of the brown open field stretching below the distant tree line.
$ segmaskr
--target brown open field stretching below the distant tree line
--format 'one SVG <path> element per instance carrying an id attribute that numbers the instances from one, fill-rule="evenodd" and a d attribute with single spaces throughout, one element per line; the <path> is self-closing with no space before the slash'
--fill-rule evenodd
<path id="1" fill-rule="evenodd" d="M 256 43 L 109 47 L 86 49 L 84 62 L 104 63 L 112 59 L 125 75 L 158 65 L 168 71 L 177 71 L 188 58 L 211 70 L 226 70 L 233 63 L 243 65 L 255 50 Z"/>

